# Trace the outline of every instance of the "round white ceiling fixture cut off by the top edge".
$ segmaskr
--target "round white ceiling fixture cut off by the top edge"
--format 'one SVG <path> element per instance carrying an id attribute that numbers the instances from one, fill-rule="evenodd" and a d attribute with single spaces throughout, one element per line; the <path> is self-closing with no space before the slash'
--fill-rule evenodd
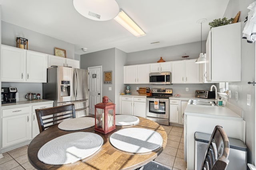
<path id="1" fill-rule="evenodd" d="M 116 0 L 73 0 L 76 11 L 82 16 L 95 21 L 108 21 L 119 13 Z"/>

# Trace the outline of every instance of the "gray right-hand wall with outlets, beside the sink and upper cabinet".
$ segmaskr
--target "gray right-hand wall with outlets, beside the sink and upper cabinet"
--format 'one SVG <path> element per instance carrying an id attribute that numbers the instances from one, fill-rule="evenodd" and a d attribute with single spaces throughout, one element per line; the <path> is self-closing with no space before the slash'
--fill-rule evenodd
<path id="1" fill-rule="evenodd" d="M 226 18 L 234 18 L 240 11 L 238 22 L 241 22 L 241 34 L 244 29 L 244 21 L 249 10 L 247 7 L 254 0 L 230 0 L 224 13 Z M 244 120 L 246 121 L 246 146 L 248 149 L 248 163 L 255 164 L 255 86 L 247 82 L 255 81 L 255 43 L 250 44 L 246 39 L 241 40 L 241 58 L 242 58 L 242 81 L 229 82 L 229 90 L 233 95 L 228 102 L 235 104 L 244 110 Z M 230 61 L 232 64 L 232 61 Z M 235 100 L 235 92 L 238 92 L 238 101 Z M 251 106 L 247 106 L 247 94 L 251 95 Z"/>

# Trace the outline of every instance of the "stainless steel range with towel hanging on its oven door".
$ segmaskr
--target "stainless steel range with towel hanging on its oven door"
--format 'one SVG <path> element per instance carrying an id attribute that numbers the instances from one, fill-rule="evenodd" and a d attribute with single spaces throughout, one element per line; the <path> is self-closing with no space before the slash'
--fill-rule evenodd
<path id="1" fill-rule="evenodd" d="M 153 88 L 147 96 L 146 118 L 161 125 L 169 125 L 169 97 L 172 89 Z"/>

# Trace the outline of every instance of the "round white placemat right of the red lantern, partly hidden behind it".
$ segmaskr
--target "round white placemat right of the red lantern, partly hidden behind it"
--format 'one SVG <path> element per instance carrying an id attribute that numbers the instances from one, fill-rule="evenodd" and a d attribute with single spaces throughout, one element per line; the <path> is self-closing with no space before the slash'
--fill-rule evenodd
<path id="1" fill-rule="evenodd" d="M 140 119 L 132 115 L 116 115 L 116 126 L 134 125 Z"/>

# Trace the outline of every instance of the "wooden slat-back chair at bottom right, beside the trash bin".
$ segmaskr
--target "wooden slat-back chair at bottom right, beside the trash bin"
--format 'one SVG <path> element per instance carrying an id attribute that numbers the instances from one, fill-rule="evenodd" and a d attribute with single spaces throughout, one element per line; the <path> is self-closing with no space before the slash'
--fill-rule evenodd
<path id="1" fill-rule="evenodd" d="M 225 170 L 228 166 L 229 141 L 225 131 L 216 125 L 205 153 L 201 170 Z"/>

